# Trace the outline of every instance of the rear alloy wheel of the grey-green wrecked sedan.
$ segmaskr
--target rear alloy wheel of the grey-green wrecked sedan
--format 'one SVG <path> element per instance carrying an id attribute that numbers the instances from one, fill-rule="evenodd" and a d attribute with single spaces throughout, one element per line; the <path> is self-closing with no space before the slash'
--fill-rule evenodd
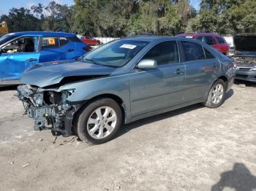
<path id="1" fill-rule="evenodd" d="M 217 108 L 225 101 L 226 86 L 222 79 L 218 79 L 211 87 L 208 98 L 203 102 L 204 106 L 209 108 Z"/>

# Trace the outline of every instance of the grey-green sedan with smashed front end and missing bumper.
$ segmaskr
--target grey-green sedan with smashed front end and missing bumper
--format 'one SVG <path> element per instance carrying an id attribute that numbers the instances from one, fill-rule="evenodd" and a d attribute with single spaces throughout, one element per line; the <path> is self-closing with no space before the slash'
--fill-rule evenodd
<path id="1" fill-rule="evenodd" d="M 28 69 L 18 98 L 34 129 L 78 135 L 102 144 L 121 125 L 203 103 L 216 108 L 233 85 L 236 63 L 194 39 L 138 36 L 119 39 L 79 61 Z"/>

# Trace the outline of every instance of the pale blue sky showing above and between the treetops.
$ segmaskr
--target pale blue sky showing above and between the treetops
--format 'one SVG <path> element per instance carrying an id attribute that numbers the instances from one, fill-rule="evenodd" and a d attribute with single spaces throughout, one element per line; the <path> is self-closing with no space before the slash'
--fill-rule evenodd
<path id="1" fill-rule="evenodd" d="M 0 0 L 0 15 L 7 14 L 9 12 L 9 9 L 12 9 L 12 7 L 20 8 L 20 7 L 26 7 L 30 8 L 34 4 L 42 3 L 43 5 L 47 5 L 50 1 L 53 0 Z M 190 0 L 190 3 L 193 7 L 195 7 L 196 10 L 199 10 L 200 7 L 200 1 L 201 0 Z M 59 4 L 67 4 L 72 5 L 74 4 L 73 0 L 56 0 Z"/>

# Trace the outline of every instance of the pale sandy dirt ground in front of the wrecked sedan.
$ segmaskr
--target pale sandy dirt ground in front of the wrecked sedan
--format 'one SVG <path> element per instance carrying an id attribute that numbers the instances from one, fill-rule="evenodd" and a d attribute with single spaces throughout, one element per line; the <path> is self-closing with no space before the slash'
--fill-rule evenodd
<path id="1" fill-rule="evenodd" d="M 0 190 L 256 190 L 255 85 L 234 85 L 218 109 L 133 122 L 97 146 L 53 144 L 14 93 L 0 90 Z"/>

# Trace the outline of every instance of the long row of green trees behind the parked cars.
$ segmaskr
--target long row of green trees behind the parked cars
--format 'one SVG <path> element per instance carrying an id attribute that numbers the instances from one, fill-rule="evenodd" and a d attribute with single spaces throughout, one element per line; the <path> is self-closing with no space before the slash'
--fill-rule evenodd
<path id="1" fill-rule="evenodd" d="M 213 31 L 255 32 L 255 0 L 202 0 L 200 11 L 189 0 L 74 0 L 71 7 L 51 1 L 46 7 L 11 9 L 1 15 L 10 31 L 67 31 L 89 36 Z"/>

